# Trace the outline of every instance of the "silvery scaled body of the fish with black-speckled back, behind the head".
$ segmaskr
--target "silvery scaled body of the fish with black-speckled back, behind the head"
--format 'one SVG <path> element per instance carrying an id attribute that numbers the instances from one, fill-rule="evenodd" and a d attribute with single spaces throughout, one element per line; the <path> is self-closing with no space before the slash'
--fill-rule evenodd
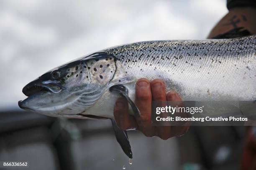
<path id="1" fill-rule="evenodd" d="M 164 79 L 166 89 L 179 92 L 183 100 L 255 100 L 255 44 L 253 35 L 138 42 L 105 52 L 117 57 L 137 79 Z"/>

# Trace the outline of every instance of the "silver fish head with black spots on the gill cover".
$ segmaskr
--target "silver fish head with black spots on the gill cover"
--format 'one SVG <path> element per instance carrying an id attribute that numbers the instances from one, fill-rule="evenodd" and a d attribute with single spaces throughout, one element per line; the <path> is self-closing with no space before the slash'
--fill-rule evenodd
<path id="1" fill-rule="evenodd" d="M 116 72 L 114 57 L 83 57 L 28 83 L 20 108 L 54 117 L 81 117 L 108 89 Z M 90 118 L 90 117 L 89 117 Z"/>

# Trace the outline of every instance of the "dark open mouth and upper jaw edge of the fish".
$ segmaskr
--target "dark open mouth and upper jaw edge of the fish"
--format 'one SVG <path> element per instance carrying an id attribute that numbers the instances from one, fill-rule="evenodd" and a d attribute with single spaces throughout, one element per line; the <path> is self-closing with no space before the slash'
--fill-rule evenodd
<path id="1" fill-rule="evenodd" d="M 59 93 L 61 92 L 61 88 L 59 86 L 54 86 L 55 89 L 48 87 L 46 85 L 38 85 L 38 84 L 31 84 L 29 83 L 26 85 L 23 89 L 22 92 L 24 95 L 30 97 L 31 95 L 34 95 L 39 92 L 53 92 L 53 93 Z"/>

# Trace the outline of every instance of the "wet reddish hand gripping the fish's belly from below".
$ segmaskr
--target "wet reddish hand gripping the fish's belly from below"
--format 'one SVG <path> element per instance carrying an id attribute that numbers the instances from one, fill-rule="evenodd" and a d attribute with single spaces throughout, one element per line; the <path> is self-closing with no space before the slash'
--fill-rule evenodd
<path id="1" fill-rule="evenodd" d="M 128 113 L 128 102 L 125 98 L 119 98 L 114 107 L 114 117 L 119 128 L 123 130 L 140 130 L 145 136 L 158 136 L 167 140 L 174 136 L 183 135 L 189 126 L 153 126 L 151 125 L 151 101 L 181 101 L 175 92 L 165 92 L 165 85 L 162 80 L 155 79 L 149 82 L 142 78 L 136 82 L 135 104 L 141 115 L 134 117 Z"/>

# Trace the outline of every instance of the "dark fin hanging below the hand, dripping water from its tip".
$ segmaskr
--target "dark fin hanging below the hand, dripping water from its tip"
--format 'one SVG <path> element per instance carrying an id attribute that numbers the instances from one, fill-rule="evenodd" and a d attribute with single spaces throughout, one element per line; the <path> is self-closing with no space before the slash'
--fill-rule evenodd
<path id="1" fill-rule="evenodd" d="M 131 145 L 128 139 L 128 135 L 126 133 L 126 130 L 121 130 L 116 125 L 115 120 L 111 119 L 113 129 L 115 131 L 115 138 L 118 141 L 119 145 L 123 149 L 123 152 L 125 155 L 127 155 L 129 158 L 133 158 L 133 153 L 131 151 Z"/>

